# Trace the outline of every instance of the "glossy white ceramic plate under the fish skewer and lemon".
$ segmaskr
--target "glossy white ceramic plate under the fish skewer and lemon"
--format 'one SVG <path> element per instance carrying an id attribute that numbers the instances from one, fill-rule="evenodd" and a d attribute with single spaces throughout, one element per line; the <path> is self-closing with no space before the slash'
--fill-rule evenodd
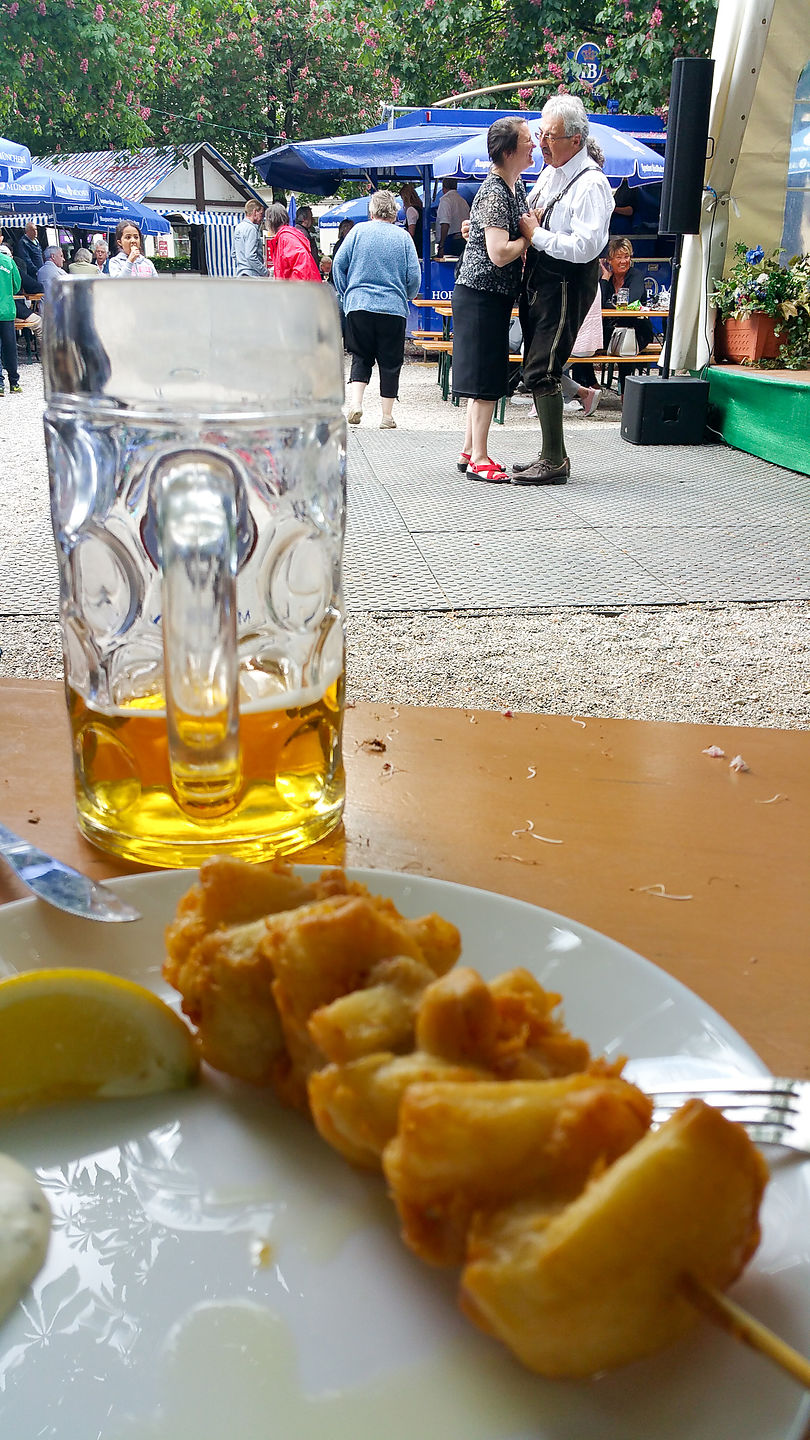
<path id="1" fill-rule="evenodd" d="M 352 874 L 406 914 L 454 920 L 484 975 L 529 966 L 595 1051 L 764 1073 L 696 995 L 594 930 L 437 880 Z M 176 999 L 163 927 L 190 878 L 117 883 L 137 924 L 6 906 L 0 962 L 107 968 Z M 708 1326 L 591 1382 L 529 1375 L 458 1315 L 454 1277 L 402 1247 L 382 1181 L 210 1071 L 179 1094 L 17 1117 L 0 1149 L 37 1172 L 55 1215 L 46 1266 L 0 1328 L 10 1440 L 797 1440 L 807 1418 L 797 1385 Z M 804 1349 L 809 1171 L 777 1161 L 735 1289 Z"/>

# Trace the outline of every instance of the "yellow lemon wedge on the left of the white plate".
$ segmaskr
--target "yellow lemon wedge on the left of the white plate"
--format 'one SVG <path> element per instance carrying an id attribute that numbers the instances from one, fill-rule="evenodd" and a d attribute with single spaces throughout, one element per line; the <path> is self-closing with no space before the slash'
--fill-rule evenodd
<path id="1" fill-rule="evenodd" d="M 174 1011 L 104 971 L 29 971 L 0 981 L 0 1109 L 177 1090 L 197 1076 Z"/>

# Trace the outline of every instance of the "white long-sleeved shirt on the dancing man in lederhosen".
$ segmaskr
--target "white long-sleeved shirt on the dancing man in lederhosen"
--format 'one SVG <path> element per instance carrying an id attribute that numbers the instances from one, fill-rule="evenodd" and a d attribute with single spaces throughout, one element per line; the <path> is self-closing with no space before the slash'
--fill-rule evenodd
<path id="1" fill-rule="evenodd" d="M 578 150 L 564 166 L 546 166 L 529 193 L 529 207 L 545 210 L 555 194 L 565 190 L 566 184 L 588 166 L 595 166 L 595 161 L 587 150 Z M 595 261 L 607 245 L 611 215 L 613 190 L 605 176 L 598 168 L 588 170 L 555 204 L 548 229 L 536 228 L 532 245 L 556 261 L 587 265 L 588 261 Z"/>

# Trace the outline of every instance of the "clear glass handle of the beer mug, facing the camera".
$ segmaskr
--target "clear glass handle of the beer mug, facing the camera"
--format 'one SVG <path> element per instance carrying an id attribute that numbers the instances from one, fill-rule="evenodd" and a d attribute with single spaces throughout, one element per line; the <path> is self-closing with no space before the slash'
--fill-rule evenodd
<path id="1" fill-rule="evenodd" d="M 154 467 L 163 668 L 174 798 L 195 819 L 238 804 L 238 467 L 213 449 L 164 454 Z"/>

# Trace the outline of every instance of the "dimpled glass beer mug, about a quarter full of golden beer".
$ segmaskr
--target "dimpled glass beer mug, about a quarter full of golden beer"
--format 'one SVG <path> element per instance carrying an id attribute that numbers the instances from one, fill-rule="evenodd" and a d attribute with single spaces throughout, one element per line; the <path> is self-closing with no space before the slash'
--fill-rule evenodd
<path id="1" fill-rule="evenodd" d="M 45 384 L 79 828 L 151 865 L 329 834 L 346 510 L 330 287 L 65 281 Z"/>

